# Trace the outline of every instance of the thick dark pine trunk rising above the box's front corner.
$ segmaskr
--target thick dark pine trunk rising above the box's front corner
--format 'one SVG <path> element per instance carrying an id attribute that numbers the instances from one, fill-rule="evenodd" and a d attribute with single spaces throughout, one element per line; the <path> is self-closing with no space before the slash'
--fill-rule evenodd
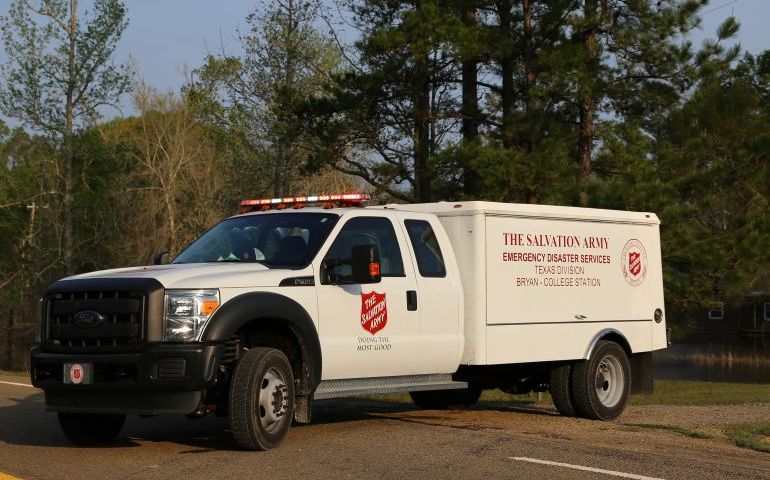
<path id="1" fill-rule="evenodd" d="M 476 7 L 474 0 L 463 0 L 460 12 L 463 23 L 468 29 L 476 27 Z M 462 70 L 462 135 L 465 143 L 475 143 L 479 137 L 479 101 L 478 101 L 478 59 L 468 56 L 461 62 Z M 467 159 L 463 161 L 463 193 L 466 198 L 479 195 L 479 174 Z"/>

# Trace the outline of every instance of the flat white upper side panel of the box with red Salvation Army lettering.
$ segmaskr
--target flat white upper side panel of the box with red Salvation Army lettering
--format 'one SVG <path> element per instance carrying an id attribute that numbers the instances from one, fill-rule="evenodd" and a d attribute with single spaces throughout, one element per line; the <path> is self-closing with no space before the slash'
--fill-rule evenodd
<path id="1" fill-rule="evenodd" d="M 651 320 L 663 307 L 659 272 L 649 268 L 650 253 L 660 251 L 657 225 L 493 215 L 486 222 L 487 324 Z M 633 278 L 627 257 L 639 253 Z"/>

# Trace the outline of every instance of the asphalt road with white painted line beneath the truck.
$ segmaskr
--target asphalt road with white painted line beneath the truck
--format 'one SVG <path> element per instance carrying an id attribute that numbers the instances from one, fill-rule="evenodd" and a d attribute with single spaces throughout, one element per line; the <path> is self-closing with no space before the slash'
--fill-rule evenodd
<path id="1" fill-rule="evenodd" d="M 238 450 L 226 419 L 176 416 L 132 417 L 114 443 L 74 448 L 61 434 L 56 415 L 45 411 L 40 391 L 0 383 L 0 480 L 6 475 L 770 479 L 770 454 L 738 448 L 720 437 L 697 439 L 629 426 L 664 423 L 716 431 L 720 422 L 762 419 L 770 419 L 770 405 L 630 407 L 618 421 L 593 422 L 561 417 L 548 406 L 494 403 L 443 412 L 349 400 L 318 402 L 313 423 L 292 427 L 287 440 L 269 452 Z"/>

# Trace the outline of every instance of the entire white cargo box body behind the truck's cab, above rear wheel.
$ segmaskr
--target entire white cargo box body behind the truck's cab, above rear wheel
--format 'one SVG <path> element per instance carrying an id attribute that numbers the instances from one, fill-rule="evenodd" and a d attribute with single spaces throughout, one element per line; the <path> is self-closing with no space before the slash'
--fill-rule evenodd
<path id="1" fill-rule="evenodd" d="M 659 221 L 651 213 L 457 202 L 436 214 L 455 250 L 472 365 L 586 358 L 602 332 L 666 347 Z M 483 268 L 480 268 L 483 266 Z"/>

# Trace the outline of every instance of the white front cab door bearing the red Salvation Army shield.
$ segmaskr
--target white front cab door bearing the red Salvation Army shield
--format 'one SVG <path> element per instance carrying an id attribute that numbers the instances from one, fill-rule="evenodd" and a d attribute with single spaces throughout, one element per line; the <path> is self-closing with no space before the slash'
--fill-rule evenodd
<path id="1" fill-rule="evenodd" d="M 350 275 L 345 260 L 352 247 L 376 245 L 382 275 L 380 283 L 366 285 L 324 285 L 323 278 L 316 282 L 324 380 L 422 373 L 420 319 L 408 304 L 415 294 L 415 276 L 402 254 L 408 244 L 392 216 L 350 218 L 322 252 L 320 258 L 338 263 L 333 275 L 344 279 Z"/>

